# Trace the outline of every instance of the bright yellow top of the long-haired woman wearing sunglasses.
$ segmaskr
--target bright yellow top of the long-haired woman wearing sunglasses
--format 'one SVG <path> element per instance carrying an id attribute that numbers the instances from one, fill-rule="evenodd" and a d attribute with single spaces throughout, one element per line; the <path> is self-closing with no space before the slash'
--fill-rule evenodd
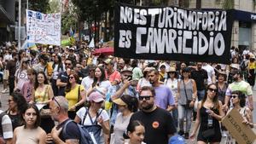
<path id="1" fill-rule="evenodd" d="M 73 107 L 76 103 L 78 103 L 81 98 L 82 95 L 80 95 L 80 100 L 79 100 L 79 87 L 80 87 L 80 91 L 84 90 L 84 86 L 77 84 L 75 86 L 75 88 L 71 89 L 69 92 L 66 93 L 66 98 L 68 101 L 68 109 L 70 109 L 71 107 Z"/>

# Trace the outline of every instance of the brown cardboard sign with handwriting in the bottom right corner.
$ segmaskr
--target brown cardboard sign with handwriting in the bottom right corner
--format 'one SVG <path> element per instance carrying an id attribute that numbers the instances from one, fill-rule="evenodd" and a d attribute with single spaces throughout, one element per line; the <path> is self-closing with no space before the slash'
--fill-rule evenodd
<path id="1" fill-rule="evenodd" d="M 256 135 L 246 124 L 242 124 L 241 114 L 233 108 L 222 120 L 222 124 L 229 130 L 230 135 L 234 137 L 238 144 L 253 144 Z"/>

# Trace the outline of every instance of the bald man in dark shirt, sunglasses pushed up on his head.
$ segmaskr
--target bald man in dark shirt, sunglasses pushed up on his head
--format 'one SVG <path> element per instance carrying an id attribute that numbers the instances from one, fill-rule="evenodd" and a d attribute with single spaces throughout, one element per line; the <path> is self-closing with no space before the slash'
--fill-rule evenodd
<path id="1" fill-rule="evenodd" d="M 68 102 L 63 96 L 55 96 L 52 101 L 49 102 L 49 109 L 52 118 L 59 124 L 53 128 L 50 134 L 47 134 L 46 143 L 55 144 L 58 143 L 73 143 L 79 144 L 80 131 L 79 126 L 75 122 L 69 122 L 71 119 L 68 118 Z M 67 123 L 69 122 L 69 123 Z M 64 126 L 67 123 L 66 130 Z"/>

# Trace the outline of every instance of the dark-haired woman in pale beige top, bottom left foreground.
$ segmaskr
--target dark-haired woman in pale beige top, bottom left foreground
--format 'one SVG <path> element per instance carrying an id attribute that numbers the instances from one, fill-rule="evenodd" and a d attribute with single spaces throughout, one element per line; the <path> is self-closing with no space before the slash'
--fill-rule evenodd
<path id="1" fill-rule="evenodd" d="M 46 140 L 45 131 L 40 128 L 40 113 L 38 107 L 29 104 L 22 113 L 25 124 L 17 127 L 14 132 L 13 143 L 15 144 L 44 144 Z"/>

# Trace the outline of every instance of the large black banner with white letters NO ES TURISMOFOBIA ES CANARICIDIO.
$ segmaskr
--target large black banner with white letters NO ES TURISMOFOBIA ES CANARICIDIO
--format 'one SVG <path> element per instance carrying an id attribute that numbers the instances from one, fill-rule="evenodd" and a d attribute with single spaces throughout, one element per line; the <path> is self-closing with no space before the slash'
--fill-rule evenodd
<path id="1" fill-rule="evenodd" d="M 232 14 L 178 7 L 115 5 L 114 55 L 230 63 Z"/>

